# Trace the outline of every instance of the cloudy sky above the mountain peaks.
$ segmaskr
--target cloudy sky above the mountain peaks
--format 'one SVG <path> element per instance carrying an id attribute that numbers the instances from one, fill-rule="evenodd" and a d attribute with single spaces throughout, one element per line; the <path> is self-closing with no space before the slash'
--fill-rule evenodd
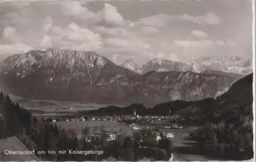
<path id="1" fill-rule="evenodd" d="M 81 0 L 0 4 L 0 56 L 47 48 L 132 59 L 252 59 L 249 0 Z"/>

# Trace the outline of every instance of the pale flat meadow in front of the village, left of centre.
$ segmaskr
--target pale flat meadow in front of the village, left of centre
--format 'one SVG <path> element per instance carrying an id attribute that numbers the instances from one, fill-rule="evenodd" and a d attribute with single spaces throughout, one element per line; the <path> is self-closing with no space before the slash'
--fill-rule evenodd
<path id="1" fill-rule="evenodd" d="M 99 131 L 100 127 L 103 125 L 104 129 L 107 131 L 118 131 L 125 134 L 132 134 L 133 129 L 125 124 L 119 122 L 109 122 L 109 121 L 59 121 L 56 122 L 57 126 L 61 128 L 74 129 L 78 134 L 81 133 L 81 129 L 88 126 L 90 127 L 90 133 L 94 131 Z"/>

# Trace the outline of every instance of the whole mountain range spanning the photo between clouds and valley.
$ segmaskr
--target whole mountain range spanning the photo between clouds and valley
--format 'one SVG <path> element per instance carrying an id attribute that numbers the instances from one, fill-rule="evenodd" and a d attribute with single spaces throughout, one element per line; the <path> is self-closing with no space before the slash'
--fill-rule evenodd
<path id="1" fill-rule="evenodd" d="M 243 62 L 232 62 L 232 59 L 228 65 L 241 63 L 241 69 L 246 69 Z M 130 62 L 126 61 L 124 68 L 91 51 L 30 50 L 0 62 L 0 85 L 5 92 L 32 99 L 155 105 L 171 100 L 216 97 L 242 77 L 241 74 L 219 71 L 226 67 L 227 60 L 218 64 L 208 63 L 205 59 L 193 61 L 202 63 L 200 67 L 206 67 L 206 63 L 212 66 L 223 64 L 217 66 L 221 68 L 216 71 L 201 69 L 200 73 L 191 70 L 187 64 L 154 60 L 152 64 L 158 62 L 169 70 L 151 70 L 146 67 L 152 64 L 146 64 L 140 74 L 132 70 L 138 68 L 136 64 L 127 68 Z"/>

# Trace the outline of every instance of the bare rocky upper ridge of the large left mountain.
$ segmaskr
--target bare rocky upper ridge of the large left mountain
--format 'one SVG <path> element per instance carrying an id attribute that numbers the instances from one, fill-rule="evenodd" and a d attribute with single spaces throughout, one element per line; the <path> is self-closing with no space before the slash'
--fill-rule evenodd
<path id="1" fill-rule="evenodd" d="M 106 63 L 111 63 L 108 59 L 97 55 L 91 51 L 78 51 L 67 49 L 49 48 L 46 51 L 29 50 L 25 54 L 13 55 L 4 60 L 1 69 L 13 69 L 16 67 L 17 73 L 30 71 L 33 67 L 67 68 L 71 71 L 75 69 L 92 70 L 92 67 L 102 69 Z M 22 71 L 20 71 L 22 70 Z"/>

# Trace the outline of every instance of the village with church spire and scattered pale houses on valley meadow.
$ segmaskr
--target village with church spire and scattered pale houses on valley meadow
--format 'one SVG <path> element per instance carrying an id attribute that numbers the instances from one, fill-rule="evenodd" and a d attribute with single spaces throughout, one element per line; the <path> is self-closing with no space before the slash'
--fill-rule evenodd
<path id="1" fill-rule="evenodd" d="M 133 115 L 105 115 L 105 116 L 82 116 L 79 118 L 47 118 L 48 121 L 65 129 L 76 128 L 77 137 L 82 137 L 82 129 L 89 127 L 91 129 L 90 136 L 86 137 L 88 142 L 95 138 L 101 138 L 102 134 L 106 137 L 107 141 L 115 141 L 121 133 L 125 133 L 127 136 L 133 138 L 134 132 L 138 132 L 142 129 L 154 130 L 154 136 L 156 142 L 161 140 L 161 137 L 174 138 L 174 132 L 171 129 L 184 129 L 185 127 L 180 124 L 172 123 L 172 119 L 176 116 L 140 116 L 136 111 Z M 60 124 L 61 123 L 61 124 Z M 164 124 L 163 124 L 164 123 Z M 118 124 L 113 126 L 113 124 Z M 167 125 L 166 125 L 167 124 Z M 68 127 L 66 127 L 68 125 Z M 101 132 L 99 127 L 104 126 L 105 132 Z M 99 129 L 96 131 L 96 127 Z M 116 129 L 117 127 L 123 128 L 123 130 Z M 115 129 L 115 130 L 114 130 Z"/>

